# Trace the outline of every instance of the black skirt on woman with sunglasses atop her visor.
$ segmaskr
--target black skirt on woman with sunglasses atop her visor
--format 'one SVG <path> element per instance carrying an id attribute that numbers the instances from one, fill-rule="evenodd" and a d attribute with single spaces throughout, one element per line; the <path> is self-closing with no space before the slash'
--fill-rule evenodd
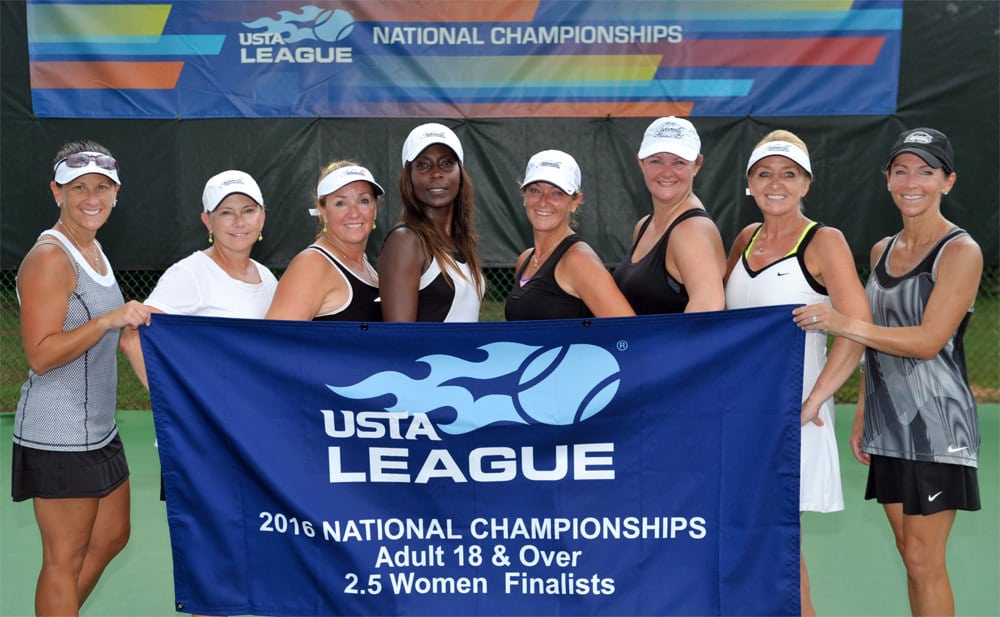
<path id="1" fill-rule="evenodd" d="M 10 494 L 14 501 L 33 497 L 104 497 L 128 480 L 121 437 L 100 450 L 53 452 L 14 444 Z"/>

